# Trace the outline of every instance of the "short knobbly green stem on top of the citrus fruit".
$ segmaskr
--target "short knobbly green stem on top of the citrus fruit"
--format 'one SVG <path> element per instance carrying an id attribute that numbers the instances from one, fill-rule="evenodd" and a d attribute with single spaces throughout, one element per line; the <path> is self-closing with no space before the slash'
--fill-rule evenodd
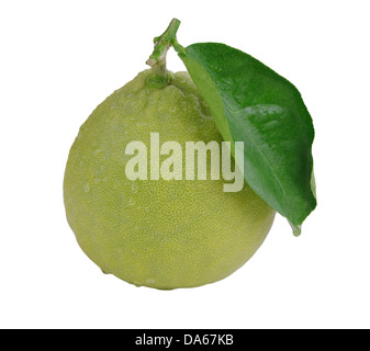
<path id="1" fill-rule="evenodd" d="M 171 46 L 176 47 L 177 50 L 182 48 L 176 38 L 176 33 L 180 23 L 181 22 L 179 20 L 173 19 L 164 34 L 154 38 L 154 52 L 146 61 L 146 64 L 152 67 L 148 86 L 153 88 L 166 87 L 171 81 L 171 73 L 166 68 L 166 56 L 167 50 Z"/>

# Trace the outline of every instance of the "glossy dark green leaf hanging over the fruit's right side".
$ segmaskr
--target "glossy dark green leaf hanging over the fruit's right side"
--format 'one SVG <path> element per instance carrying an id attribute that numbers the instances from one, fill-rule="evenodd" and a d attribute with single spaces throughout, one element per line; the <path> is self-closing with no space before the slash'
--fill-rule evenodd
<path id="1" fill-rule="evenodd" d="M 227 141 L 244 141 L 244 176 L 287 217 L 295 235 L 315 208 L 314 128 L 300 92 L 287 79 L 224 44 L 179 53 Z"/>

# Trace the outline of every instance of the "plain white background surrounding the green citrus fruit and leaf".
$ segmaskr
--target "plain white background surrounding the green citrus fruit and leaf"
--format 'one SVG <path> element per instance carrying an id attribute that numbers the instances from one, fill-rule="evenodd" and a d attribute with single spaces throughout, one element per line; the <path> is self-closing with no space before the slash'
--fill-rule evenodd
<path id="1" fill-rule="evenodd" d="M 369 328 L 367 1 L 2 1 L 1 328 Z M 146 69 L 172 18 L 187 46 L 220 42 L 301 91 L 316 129 L 318 206 L 280 216 L 229 278 L 135 287 L 78 247 L 63 204 L 69 148 L 98 103 Z M 169 69 L 184 69 L 173 50 Z"/>

